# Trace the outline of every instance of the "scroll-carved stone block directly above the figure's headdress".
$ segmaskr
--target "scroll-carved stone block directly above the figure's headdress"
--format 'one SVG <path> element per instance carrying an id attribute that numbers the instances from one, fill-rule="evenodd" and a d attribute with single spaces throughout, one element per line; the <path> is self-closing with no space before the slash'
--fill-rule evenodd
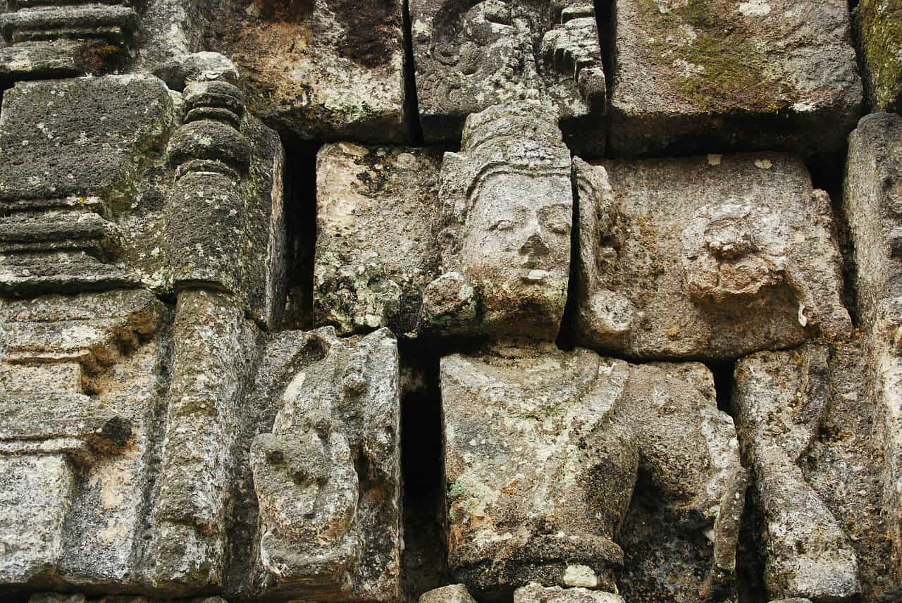
<path id="1" fill-rule="evenodd" d="M 592 2 L 411 0 L 410 22 L 428 143 L 457 142 L 468 114 L 540 100 L 571 148 L 603 154 L 606 87 Z"/>

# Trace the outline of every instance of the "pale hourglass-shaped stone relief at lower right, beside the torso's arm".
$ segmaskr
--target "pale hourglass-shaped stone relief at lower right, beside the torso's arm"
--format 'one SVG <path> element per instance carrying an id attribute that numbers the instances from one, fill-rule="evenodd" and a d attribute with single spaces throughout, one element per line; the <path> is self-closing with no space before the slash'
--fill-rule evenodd
<path id="1" fill-rule="evenodd" d="M 736 368 L 733 401 L 766 525 L 772 596 L 848 600 L 861 589 L 851 540 L 802 471 L 830 402 L 828 354 L 761 352 Z"/>

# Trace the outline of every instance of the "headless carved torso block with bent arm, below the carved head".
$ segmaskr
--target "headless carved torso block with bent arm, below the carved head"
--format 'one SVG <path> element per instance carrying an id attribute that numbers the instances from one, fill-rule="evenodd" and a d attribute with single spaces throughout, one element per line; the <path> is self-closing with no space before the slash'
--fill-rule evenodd
<path id="1" fill-rule="evenodd" d="M 745 474 L 710 381 L 701 365 L 633 366 L 548 344 L 443 358 L 456 577 L 481 592 L 530 581 L 612 591 L 641 472 L 684 525 L 712 530 L 699 596 L 729 584 Z"/>

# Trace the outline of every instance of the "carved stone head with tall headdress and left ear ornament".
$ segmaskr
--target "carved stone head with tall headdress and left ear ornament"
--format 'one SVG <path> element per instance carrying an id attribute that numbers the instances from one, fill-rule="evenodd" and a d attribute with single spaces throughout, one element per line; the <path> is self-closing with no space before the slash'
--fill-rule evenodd
<path id="1" fill-rule="evenodd" d="M 446 333 L 554 339 L 564 314 L 573 192 L 570 153 L 544 105 L 497 105 L 467 118 L 440 175 L 444 274 L 422 322 Z"/>

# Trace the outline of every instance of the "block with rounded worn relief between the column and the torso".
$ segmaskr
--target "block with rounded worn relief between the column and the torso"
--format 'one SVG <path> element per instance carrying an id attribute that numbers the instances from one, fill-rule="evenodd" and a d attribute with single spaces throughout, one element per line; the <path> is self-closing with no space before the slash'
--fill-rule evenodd
<path id="1" fill-rule="evenodd" d="M 272 335 L 244 414 L 244 433 L 257 434 L 244 444 L 253 472 L 244 480 L 259 508 L 248 526 L 248 594 L 398 600 L 400 383 L 391 332 Z"/>

